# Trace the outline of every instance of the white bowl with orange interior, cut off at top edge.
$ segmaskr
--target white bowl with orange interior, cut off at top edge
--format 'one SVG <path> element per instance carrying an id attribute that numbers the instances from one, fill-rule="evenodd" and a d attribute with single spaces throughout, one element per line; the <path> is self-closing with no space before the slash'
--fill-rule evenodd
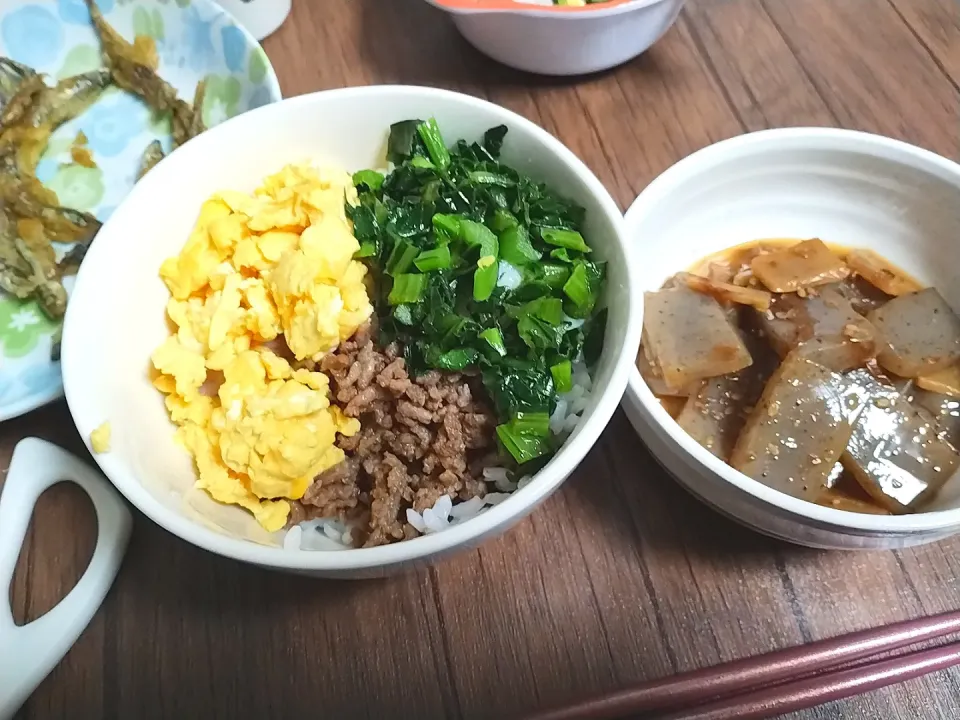
<path id="1" fill-rule="evenodd" d="M 647 50 L 676 21 L 684 0 L 627 0 L 555 7 L 552 0 L 427 0 L 450 13 L 477 50 L 541 75 L 616 67 Z"/>

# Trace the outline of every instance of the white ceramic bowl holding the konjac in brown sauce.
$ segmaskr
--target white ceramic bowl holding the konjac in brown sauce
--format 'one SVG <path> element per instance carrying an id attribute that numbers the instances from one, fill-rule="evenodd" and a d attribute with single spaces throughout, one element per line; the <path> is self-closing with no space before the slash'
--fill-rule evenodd
<path id="1" fill-rule="evenodd" d="M 819 237 L 876 250 L 960 310 L 960 165 L 887 138 L 798 128 L 718 143 L 657 178 L 627 213 L 627 230 L 641 292 L 738 243 Z M 930 512 L 834 510 L 773 490 L 715 458 L 670 418 L 636 370 L 624 407 L 684 487 L 768 535 L 822 548 L 892 548 L 960 530 L 960 477 Z"/>

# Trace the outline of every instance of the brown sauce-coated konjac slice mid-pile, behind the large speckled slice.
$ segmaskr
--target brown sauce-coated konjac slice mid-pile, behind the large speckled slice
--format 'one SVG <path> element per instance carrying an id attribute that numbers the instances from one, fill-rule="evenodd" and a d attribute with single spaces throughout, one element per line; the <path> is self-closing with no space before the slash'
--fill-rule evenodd
<path id="1" fill-rule="evenodd" d="M 774 295 L 770 309 L 759 314 L 759 325 L 781 357 L 802 347 L 810 360 L 836 372 L 861 367 L 877 352 L 876 328 L 836 285 L 804 297 Z"/>

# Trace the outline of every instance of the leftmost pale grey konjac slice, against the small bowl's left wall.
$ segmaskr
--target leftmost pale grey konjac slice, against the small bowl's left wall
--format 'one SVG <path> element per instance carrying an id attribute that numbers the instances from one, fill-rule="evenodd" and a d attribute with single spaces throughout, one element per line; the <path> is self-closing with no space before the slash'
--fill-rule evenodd
<path id="1" fill-rule="evenodd" d="M 671 388 L 737 372 L 752 362 L 714 298 L 679 286 L 644 295 L 649 358 Z"/>

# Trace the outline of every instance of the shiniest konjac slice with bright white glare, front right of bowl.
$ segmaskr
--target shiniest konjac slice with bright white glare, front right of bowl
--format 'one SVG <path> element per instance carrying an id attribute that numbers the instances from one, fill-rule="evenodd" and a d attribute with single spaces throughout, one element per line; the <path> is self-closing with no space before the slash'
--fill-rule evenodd
<path id="1" fill-rule="evenodd" d="M 860 486 L 893 513 L 916 510 L 960 466 L 960 454 L 934 419 L 869 372 L 847 376 L 868 400 L 841 458 Z"/>

